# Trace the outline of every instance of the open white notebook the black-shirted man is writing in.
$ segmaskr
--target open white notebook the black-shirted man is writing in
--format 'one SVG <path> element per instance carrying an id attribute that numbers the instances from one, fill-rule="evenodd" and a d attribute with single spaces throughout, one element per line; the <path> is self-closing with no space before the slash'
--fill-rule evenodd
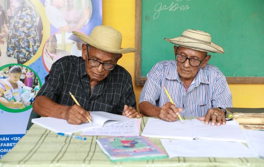
<path id="1" fill-rule="evenodd" d="M 83 131 L 84 129 L 96 128 L 105 125 L 111 125 L 117 122 L 129 121 L 130 118 L 127 118 L 122 115 L 116 115 L 112 113 L 102 112 L 102 111 L 93 111 L 90 112 L 92 117 L 91 121 L 93 124 L 90 123 L 82 123 L 80 125 L 72 125 L 69 124 L 64 119 L 58 118 L 51 118 L 51 117 L 42 117 L 42 118 L 35 118 L 32 119 L 32 123 L 35 123 L 39 126 L 43 126 L 51 131 L 56 133 L 74 133 L 78 131 Z"/>

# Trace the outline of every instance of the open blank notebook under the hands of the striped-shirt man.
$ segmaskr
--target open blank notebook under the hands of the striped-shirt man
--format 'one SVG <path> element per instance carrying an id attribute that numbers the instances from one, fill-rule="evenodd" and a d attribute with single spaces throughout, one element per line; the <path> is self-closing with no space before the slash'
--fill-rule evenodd
<path id="1" fill-rule="evenodd" d="M 227 121 L 225 125 L 206 125 L 198 119 L 167 122 L 149 118 L 142 132 L 143 136 L 167 139 L 204 139 L 215 141 L 243 142 L 246 140 L 238 122 Z"/>

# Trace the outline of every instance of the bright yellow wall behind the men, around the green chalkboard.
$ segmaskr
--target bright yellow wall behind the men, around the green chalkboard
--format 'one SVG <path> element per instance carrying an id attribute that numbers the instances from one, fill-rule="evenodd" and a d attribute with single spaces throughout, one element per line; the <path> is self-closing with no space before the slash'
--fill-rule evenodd
<path id="1" fill-rule="evenodd" d="M 135 1 L 103 0 L 103 25 L 111 25 L 123 36 L 122 47 L 135 47 Z M 179 32 L 180 33 L 180 32 Z M 128 70 L 133 79 L 137 104 L 142 86 L 136 86 L 135 54 L 124 54 L 118 64 Z M 264 108 L 264 84 L 229 84 L 234 107 Z"/>

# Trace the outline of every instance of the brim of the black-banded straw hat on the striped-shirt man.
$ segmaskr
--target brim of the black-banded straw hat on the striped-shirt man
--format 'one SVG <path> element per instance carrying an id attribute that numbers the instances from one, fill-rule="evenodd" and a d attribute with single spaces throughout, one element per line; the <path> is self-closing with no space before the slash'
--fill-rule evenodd
<path id="1" fill-rule="evenodd" d="M 181 36 L 172 38 L 172 39 L 164 38 L 164 40 L 171 42 L 173 44 L 182 46 L 184 48 L 190 48 L 190 49 L 199 50 L 203 52 L 212 52 L 212 53 L 220 53 L 220 54 L 225 53 L 224 49 L 221 46 L 216 45 L 213 42 L 211 42 L 210 45 L 197 42 L 197 41 L 183 42 L 183 41 L 180 41 L 180 37 Z"/>

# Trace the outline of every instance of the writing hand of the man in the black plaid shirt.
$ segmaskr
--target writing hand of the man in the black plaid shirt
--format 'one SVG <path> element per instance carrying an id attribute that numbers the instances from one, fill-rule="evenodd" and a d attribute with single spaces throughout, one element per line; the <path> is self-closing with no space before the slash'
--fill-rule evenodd
<path id="1" fill-rule="evenodd" d="M 84 110 L 79 105 L 69 106 L 66 111 L 66 120 L 70 124 L 79 125 L 81 123 L 87 123 L 88 118 L 91 120 L 90 112 Z"/>

